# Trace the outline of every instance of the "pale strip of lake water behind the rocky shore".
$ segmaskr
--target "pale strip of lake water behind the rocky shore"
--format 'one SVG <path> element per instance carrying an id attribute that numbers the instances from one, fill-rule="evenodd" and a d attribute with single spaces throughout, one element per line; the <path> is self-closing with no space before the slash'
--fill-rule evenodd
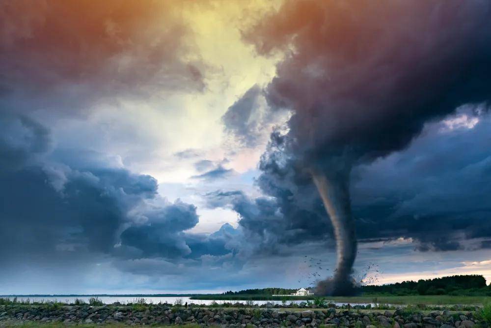
<path id="1" fill-rule="evenodd" d="M 6 297 L 3 297 L 6 298 Z M 14 297 L 8 297 L 10 299 L 13 299 Z M 81 299 L 84 302 L 88 303 L 90 296 L 73 296 L 73 297 L 66 297 L 66 296 L 34 296 L 34 297 L 17 297 L 18 301 L 26 301 L 27 299 L 30 302 L 63 302 L 63 303 L 74 303 L 75 299 Z M 121 304 L 126 304 L 126 303 L 135 303 L 138 299 L 144 298 L 146 303 L 153 303 L 153 304 L 158 304 L 158 303 L 169 303 L 169 304 L 174 304 L 178 301 L 182 301 L 182 304 L 188 302 L 194 303 L 194 304 L 199 304 L 199 305 L 210 305 L 213 302 L 216 302 L 218 304 L 222 303 L 246 303 L 246 300 L 210 300 L 210 299 L 191 299 L 189 297 L 121 297 L 121 296 L 101 296 L 97 297 L 99 300 L 101 300 L 105 304 L 112 304 L 114 302 L 120 302 Z M 266 304 L 268 302 L 273 303 L 273 304 L 282 304 L 281 301 L 279 300 L 254 300 L 254 304 L 262 305 Z M 299 304 L 300 302 L 303 302 L 303 300 L 288 300 L 286 304 L 290 303 L 297 303 Z M 339 303 L 339 302 L 333 302 L 336 305 L 343 305 L 346 303 Z M 350 303 L 351 305 L 367 305 L 369 303 Z"/>

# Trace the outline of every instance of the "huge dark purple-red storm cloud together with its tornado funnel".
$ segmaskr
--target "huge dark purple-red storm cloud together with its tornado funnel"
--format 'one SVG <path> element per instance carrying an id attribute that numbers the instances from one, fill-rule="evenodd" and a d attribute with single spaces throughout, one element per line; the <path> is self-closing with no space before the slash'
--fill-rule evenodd
<path id="1" fill-rule="evenodd" d="M 406 148 L 424 124 L 491 96 L 488 1 L 287 1 L 245 34 L 284 52 L 266 89 L 290 109 L 286 156 L 311 174 L 337 239 L 319 294 L 346 294 L 356 239 L 352 168 Z"/>

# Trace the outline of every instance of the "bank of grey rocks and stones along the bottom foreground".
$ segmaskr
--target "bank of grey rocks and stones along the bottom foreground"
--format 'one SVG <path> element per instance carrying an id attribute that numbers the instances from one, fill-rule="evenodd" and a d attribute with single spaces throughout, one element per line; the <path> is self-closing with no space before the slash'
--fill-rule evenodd
<path id="1" fill-rule="evenodd" d="M 347 309 L 204 308 L 170 304 L 133 306 L 1 305 L 0 326 L 40 324 L 199 325 L 224 327 L 473 328 L 487 327 L 473 312 Z"/>

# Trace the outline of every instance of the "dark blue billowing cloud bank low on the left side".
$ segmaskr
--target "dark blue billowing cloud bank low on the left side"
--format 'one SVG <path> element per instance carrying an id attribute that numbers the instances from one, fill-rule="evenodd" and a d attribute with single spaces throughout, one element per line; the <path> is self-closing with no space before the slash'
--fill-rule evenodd
<path id="1" fill-rule="evenodd" d="M 35 266 L 42 259 L 58 266 L 106 256 L 116 267 L 141 273 L 148 263 L 133 266 L 130 260 L 230 253 L 225 245 L 233 228 L 187 236 L 184 231 L 198 223 L 196 207 L 159 199 L 153 177 L 105 167 L 92 151 L 51 152 L 50 131 L 32 120 L 12 117 L 1 124 L 2 166 L 8 169 L 0 172 L 3 265 Z"/>

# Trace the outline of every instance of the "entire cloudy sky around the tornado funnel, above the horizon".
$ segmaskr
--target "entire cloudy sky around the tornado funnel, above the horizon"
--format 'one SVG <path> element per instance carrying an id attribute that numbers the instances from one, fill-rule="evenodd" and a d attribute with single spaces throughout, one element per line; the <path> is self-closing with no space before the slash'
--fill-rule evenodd
<path id="1" fill-rule="evenodd" d="M 490 11 L 2 1 L 0 294 L 308 287 L 336 265 L 312 169 L 357 281 L 490 283 Z"/>

